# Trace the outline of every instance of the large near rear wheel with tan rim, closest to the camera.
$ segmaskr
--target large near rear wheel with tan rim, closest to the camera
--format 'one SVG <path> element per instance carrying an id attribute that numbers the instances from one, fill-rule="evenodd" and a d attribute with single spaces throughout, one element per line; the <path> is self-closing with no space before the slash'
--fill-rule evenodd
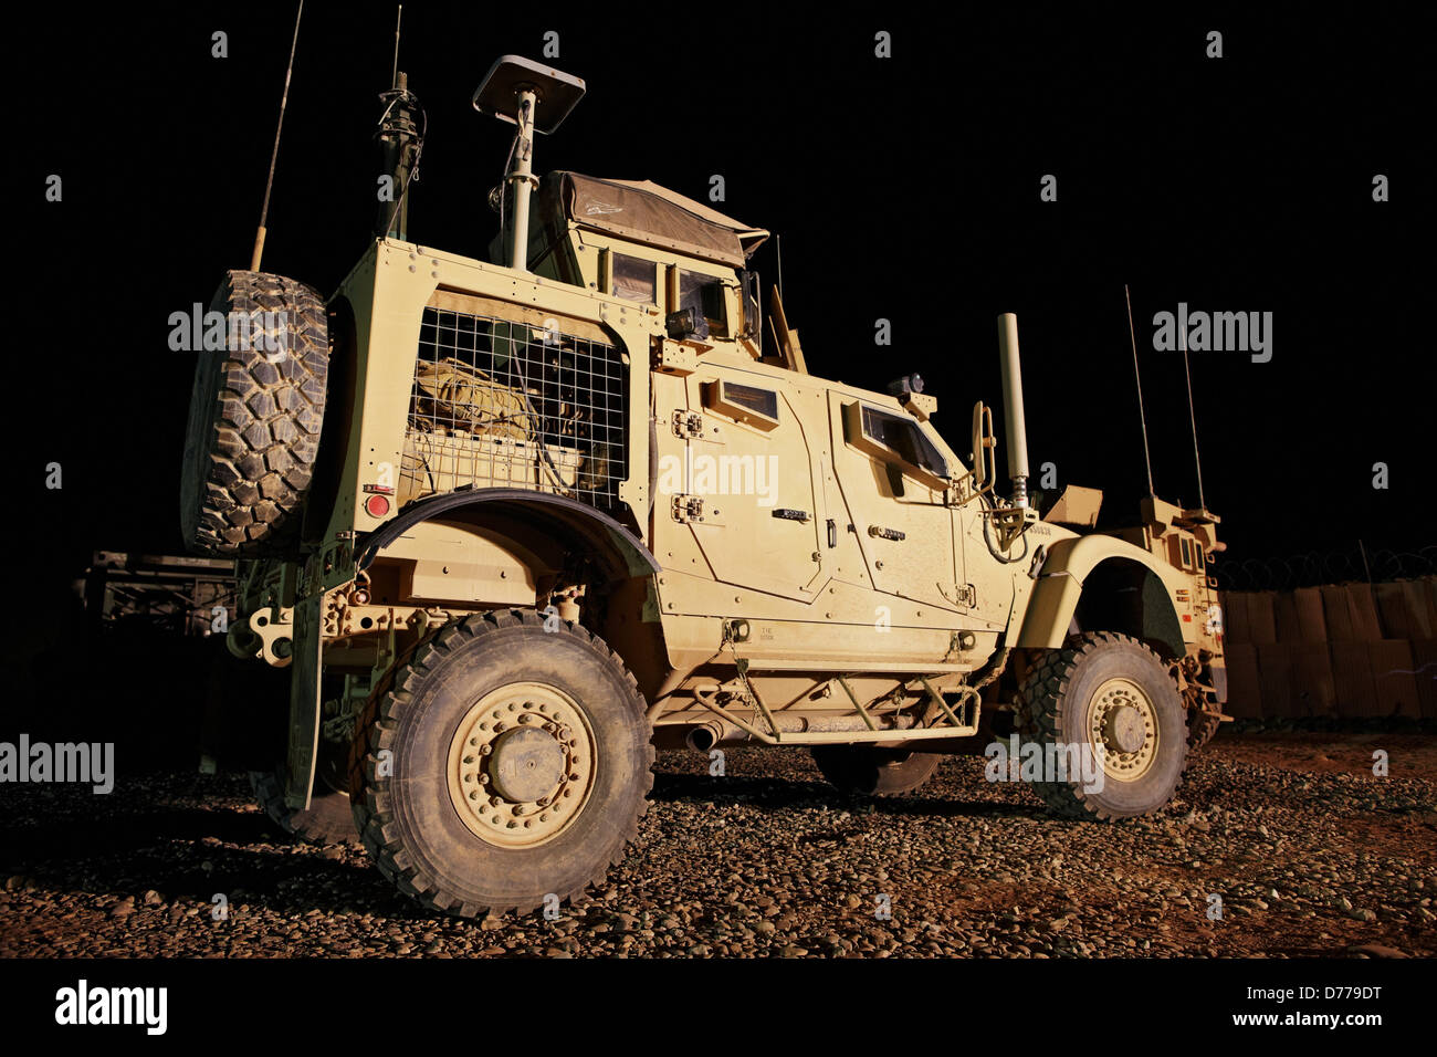
<path id="1" fill-rule="evenodd" d="M 431 909 L 578 899 L 638 833 L 650 735 L 634 676 L 602 639 L 546 631 L 532 610 L 467 617 L 376 687 L 352 754 L 355 823 L 379 871 Z"/>

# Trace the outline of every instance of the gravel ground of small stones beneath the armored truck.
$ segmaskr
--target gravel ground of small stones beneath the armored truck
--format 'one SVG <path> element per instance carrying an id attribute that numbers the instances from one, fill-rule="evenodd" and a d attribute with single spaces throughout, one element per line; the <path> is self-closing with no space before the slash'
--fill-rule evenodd
<path id="1" fill-rule="evenodd" d="M 430 915 L 358 843 L 282 838 L 240 775 L 4 785 L 0 955 L 1437 953 L 1437 738 L 1221 736 L 1164 815 L 1119 825 L 1050 820 L 980 756 L 892 800 L 833 794 L 802 751 L 726 762 L 661 754 L 628 857 L 553 922 Z"/>

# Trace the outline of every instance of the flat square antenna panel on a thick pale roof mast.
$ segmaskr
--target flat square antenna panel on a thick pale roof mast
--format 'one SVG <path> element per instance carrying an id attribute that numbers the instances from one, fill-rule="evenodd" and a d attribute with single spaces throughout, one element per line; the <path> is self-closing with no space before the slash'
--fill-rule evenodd
<path id="1" fill-rule="evenodd" d="M 517 55 L 499 56 L 474 91 L 476 111 L 519 127 L 513 168 L 504 174 L 514 196 L 512 267 L 517 272 L 529 266 L 529 194 L 539 186 L 533 174 L 533 135 L 559 128 L 582 98 L 582 79 Z"/>

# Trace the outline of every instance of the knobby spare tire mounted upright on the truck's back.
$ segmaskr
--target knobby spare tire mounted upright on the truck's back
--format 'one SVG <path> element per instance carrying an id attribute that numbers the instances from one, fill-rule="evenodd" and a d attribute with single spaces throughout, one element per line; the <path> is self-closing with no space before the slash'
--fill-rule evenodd
<path id="1" fill-rule="evenodd" d="M 250 341 L 197 349 L 180 483 L 184 542 L 241 557 L 296 528 L 325 417 L 329 337 L 309 286 L 227 272 L 210 309 L 251 321 Z"/>

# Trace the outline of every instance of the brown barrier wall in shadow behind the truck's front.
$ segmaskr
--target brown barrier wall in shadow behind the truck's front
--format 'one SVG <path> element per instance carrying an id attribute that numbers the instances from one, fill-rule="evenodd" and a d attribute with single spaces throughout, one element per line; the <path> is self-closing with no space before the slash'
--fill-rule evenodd
<path id="1" fill-rule="evenodd" d="M 1229 715 L 1437 719 L 1437 577 L 1220 594 Z"/>

